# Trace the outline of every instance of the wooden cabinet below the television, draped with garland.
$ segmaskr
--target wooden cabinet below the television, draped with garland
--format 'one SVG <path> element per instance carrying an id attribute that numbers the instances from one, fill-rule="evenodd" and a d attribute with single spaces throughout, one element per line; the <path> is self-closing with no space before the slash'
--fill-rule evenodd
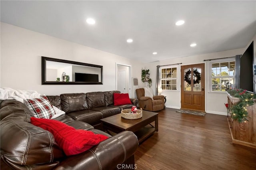
<path id="1" fill-rule="evenodd" d="M 228 94 L 228 107 L 236 105 L 240 99 L 232 97 Z M 228 112 L 228 125 L 232 137 L 232 142 L 256 148 L 256 104 L 246 107 L 248 111 L 248 120 L 239 123 L 231 118 L 231 112 Z"/>

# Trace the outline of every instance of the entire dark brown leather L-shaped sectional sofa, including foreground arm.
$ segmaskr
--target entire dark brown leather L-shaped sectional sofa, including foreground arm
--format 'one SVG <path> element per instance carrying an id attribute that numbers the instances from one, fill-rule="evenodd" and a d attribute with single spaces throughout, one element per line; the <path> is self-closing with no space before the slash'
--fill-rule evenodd
<path id="1" fill-rule="evenodd" d="M 128 164 L 128 166 L 134 164 L 138 139 L 133 132 L 124 131 L 110 136 L 94 128 L 99 126 L 100 119 L 118 114 L 122 108 L 137 105 L 137 100 L 131 99 L 132 105 L 114 106 L 113 93 L 120 92 L 48 96 L 52 105 L 66 112 L 55 120 L 76 129 L 90 130 L 96 134 L 109 136 L 108 139 L 90 150 L 73 156 L 64 154 L 50 132 L 30 123 L 32 113 L 26 105 L 16 100 L 2 101 L 0 110 L 1 170 L 108 170 L 116 169 L 118 164 Z"/>

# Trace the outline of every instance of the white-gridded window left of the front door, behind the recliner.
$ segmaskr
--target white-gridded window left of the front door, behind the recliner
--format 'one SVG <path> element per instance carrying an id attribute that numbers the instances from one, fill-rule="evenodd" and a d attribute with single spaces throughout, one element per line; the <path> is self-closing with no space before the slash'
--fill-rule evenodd
<path id="1" fill-rule="evenodd" d="M 161 68 L 161 87 L 163 90 L 177 90 L 177 67 Z"/>

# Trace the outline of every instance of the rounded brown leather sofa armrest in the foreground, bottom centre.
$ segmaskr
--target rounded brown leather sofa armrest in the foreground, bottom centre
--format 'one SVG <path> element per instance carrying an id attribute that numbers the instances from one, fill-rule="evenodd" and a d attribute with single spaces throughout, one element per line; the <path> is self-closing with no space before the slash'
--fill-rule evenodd
<path id="1" fill-rule="evenodd" d="M 116 169 L 130 158 L 138 148 L 138 138 L 131 131 L 116 134 L 92 147 L 86 152 L 69 156 L 63 160 L 56 170 L 66 169 Z"/>

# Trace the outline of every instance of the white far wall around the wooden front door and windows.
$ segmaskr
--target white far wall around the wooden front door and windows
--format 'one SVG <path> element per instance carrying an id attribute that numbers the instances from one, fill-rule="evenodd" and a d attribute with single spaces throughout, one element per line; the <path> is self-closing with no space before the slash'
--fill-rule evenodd
<path id="1" fill-rule="evenodd" d="M 204 59 L 216 59 L 223 57 L 233 57 L 238 54 L 243 54 L 244 48 L 234 49 L 229 51 L 220 51 L 216 53 L 209 53 L 203 55 L 194 55 L 189 57 L 181 57 L 176 59 L 170 59 L 165 61 L 158 61 L 153 63 L 148 63 L 146 69 L 150 69 L 150 78 L 152 79 L 152 89 L 156 91 L 156 66 L 157 65 L 168 65 L 182 63 L 181 65 L 190 65 L 196 63 L 205 63 L 205 95 L 206 95 L 206 112 L 214 113 L 220 115 L 226 115 L 226 107 L 224 103 L 227 103 L 226 93 L 210 93 L 210 62 L 204 61 Z M 178 71 L 180 71 L 180 65 L 178 65 Z M 180 79 L 179 79 L 180 81 Z M 179 82 L 180 83 L 180 82 Z M 180 89 L 180 87 L 179 87 Z M 163 90 L 162 95 L 166 96 L 166 107 L 180 109 L 180 90 L 178 91 L 168 91 Z"/>

